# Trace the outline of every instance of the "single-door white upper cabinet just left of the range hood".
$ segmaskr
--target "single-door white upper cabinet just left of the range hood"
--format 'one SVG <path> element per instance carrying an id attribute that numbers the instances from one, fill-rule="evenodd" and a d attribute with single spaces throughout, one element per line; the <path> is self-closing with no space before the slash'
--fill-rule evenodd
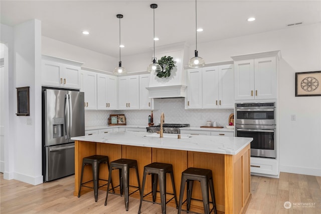
<path id="1" fill-rule="evenodd" d="M 149 87 L 150 74 L 139 75 L 139 109 L 154 109 L 154 99 L 149 98 L 149 92 L 146 87 Z"/>

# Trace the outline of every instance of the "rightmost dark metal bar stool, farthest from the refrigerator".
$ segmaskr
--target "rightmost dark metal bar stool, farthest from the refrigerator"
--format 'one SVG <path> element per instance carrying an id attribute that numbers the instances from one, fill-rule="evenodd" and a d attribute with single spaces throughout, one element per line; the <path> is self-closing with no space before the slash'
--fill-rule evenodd
<path id="1" fill-rule="evenodd" d="M 216 214 L 216 205 L 215 205 L 215 195 L 214 195 L 214 185 L 213 185 L 213 175 L 212 170 L 210 169 L 202 169 L 202 168 L 187 168 L 185 171 L 182 172 L 182 180 L 181 180 L 181 190 L 180 190 L 180 203 L 179 203 L 179 211 L 189 211 L 191 207 L 191 200 L 199 200 L 192 198 L 192 190 L 193 190 L 193 181 L 198 180 L 201 182 L 201 189 L 202 189 L 202 197 L 203 197 L 203 206 L 204 206 L 204 213 L 209 214 L 213 210 Z M 185 190 L 185 183 L 187 182 L 187 199 L 183 201 L 184 190 Z M 210 210 L 210 201 L 209 201 L 209 186 L 212 195 L 212 204 L 213 207 Z M 187 201 L 187 210 L 182 209 L 182 205 Z M 197 213 L 197 212 L 193 212 Z"/>

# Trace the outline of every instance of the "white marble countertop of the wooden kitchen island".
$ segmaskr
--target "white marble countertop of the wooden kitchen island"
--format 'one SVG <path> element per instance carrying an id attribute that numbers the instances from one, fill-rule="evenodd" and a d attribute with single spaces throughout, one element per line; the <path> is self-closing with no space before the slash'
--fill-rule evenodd
<path id="1" fill-rule="evenodd" d="M 159 138 L 159 134 L 156 133 L 131 131 L 79 136 L 72 137 L 71 139 L 89 142 L 231 155 L 235 155 L 240 152 L 253 140 L 253 138 L 247 137 L 222 137 L 187 134 L 181 134 L 181 139 L 178 139 L 178 134 L 167 133 L 164 133 L 164 138 Z"/>

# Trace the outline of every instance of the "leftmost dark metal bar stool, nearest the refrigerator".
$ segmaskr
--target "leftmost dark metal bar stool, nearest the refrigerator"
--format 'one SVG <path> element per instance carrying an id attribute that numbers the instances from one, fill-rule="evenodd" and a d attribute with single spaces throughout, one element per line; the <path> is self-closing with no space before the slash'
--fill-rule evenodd
<path id="1" fill-rule="evenodd" d="M 80 178 L 80 184 L 79 184 L 79 191 L 78 191 L 78 197 L 80 197 L 80 190 L 81 190 L 81 186 L 85 186 L 85 187 L 88 187 L 88 188 L 93 188 L 94 189 L 94 195 L 95 195 L 95 202 L 97 202 L 97 198 L 98 198 L 98 189 L 102 186 L 105 186 L 107 185 L 107 183 L 103 184 L 103 185 L 100 185 L 99 186 L 99 180 L 104 180 L 104 179 L 100 179 L 99 178 L 99 166 L 100 166 L 100 163 L 107 163 L 107 166 L 108 166 L 108 170 L 109 170 L 109 160 L 108 160 L 108 156 L 104 156 L 104 155 L 92 155 L 92 156 L 89 156 L 89 157 L 84 157 L 82 159 L 82 168 L 81 168 L 81 178 Z M 91 165 L 92 167 L 92 180 L 89 180 L 89 181 L 86 181 L 86 182 L 82 182 L 82 178 L 83 178 L 83 174 L 84 174 L 84 168 L 86 165 Z M 110 173 L 109 173 L 110 174 Z M 88 183 L 88 182 L 91 182 L 93 181 L 94 183 L 94 186 L 86 186 L 84 184 Z M 108 180 L 104 180 L 104 181 L 108 181 Z M 109 182 L 111 183 L 111 186 L 112 185 L 112 182 L 111 180 L 108 181 L 108 184 Z"/>

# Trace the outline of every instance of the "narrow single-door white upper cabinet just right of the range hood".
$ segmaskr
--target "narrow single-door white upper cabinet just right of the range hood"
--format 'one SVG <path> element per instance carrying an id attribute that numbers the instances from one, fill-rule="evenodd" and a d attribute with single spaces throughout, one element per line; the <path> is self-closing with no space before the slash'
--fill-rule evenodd
<path id="1" fill-rule="evenodd" d="M 187 109 L 202 108 L 202 69 L 187 71 Z"/>

